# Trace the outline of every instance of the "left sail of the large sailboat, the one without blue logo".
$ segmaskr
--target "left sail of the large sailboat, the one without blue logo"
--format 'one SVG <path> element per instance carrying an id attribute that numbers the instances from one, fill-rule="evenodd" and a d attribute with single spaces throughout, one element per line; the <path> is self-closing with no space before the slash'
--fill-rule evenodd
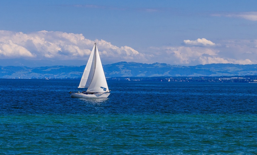
<path id="1" fill-rule="evenodd" d="M 89 56 L 87 65 L 81 77 L 78 88 L 88 88 L 92 81 L 94 72 L 95 72 L 95 46 L 93 47 L 92 52 Z"/>

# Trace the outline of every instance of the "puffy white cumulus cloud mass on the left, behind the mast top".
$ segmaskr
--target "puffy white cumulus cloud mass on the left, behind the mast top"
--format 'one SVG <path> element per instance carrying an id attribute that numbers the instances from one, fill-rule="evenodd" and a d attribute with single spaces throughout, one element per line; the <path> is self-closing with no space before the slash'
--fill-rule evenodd
<path id="1" fill-rule="evenodd" d="M 35 60 L 86 60 L 94 42 L 86 39 L 82 34 L 45 30 L 25 34 L 1 30 L 0 57 L 1 59 L 22 57 Z M 131 47 L 117 47 L 104 40 L 97 40 L 96 42 L 99 53 L 105 55 L 103 60 L 106 62 L 115 59 L 122 61 L 144 59 L 144 54 Z"/>

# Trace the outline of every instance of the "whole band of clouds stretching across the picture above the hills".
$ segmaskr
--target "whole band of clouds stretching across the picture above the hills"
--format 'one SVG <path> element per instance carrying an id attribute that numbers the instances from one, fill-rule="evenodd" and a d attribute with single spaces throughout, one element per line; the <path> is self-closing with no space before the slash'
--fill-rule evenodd
<path id="1" fill-rule="evenodd" d="M 0 30 L 0 59 L 86 62 L 94 42 L 82 34 L 45 30 L 26 34 Z M 257 63 L 257 40 L 219 40 L 216 43 L 206 38 L 198 38 L 184 40 L 182 46 L 149 47 L 141 51 L 126 45 L 118 47 L 104 40 L 96 42 L 103 64 L 120 61 L 188 66 Z"/>

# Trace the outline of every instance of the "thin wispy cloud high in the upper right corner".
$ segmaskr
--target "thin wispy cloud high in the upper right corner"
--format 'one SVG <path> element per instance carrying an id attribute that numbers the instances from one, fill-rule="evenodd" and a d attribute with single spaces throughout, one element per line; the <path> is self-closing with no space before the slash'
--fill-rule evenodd
<path id="1" fill-rule="evenodd" d="M 257 12 L 239 12 L 227 14 L 212 14 L 213 16 L 238 17 L 246 20 L 257 21 Z"/>

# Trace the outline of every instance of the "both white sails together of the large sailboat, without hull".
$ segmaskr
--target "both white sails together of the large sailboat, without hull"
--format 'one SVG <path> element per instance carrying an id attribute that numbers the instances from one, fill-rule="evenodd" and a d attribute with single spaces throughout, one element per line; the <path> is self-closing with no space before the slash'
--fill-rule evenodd
<path id="1" fill-rule="evenodd" d="M 78 88 L 87 88 L 87 92 L 109 92 L 96 43 L 92 49 Z"/>

